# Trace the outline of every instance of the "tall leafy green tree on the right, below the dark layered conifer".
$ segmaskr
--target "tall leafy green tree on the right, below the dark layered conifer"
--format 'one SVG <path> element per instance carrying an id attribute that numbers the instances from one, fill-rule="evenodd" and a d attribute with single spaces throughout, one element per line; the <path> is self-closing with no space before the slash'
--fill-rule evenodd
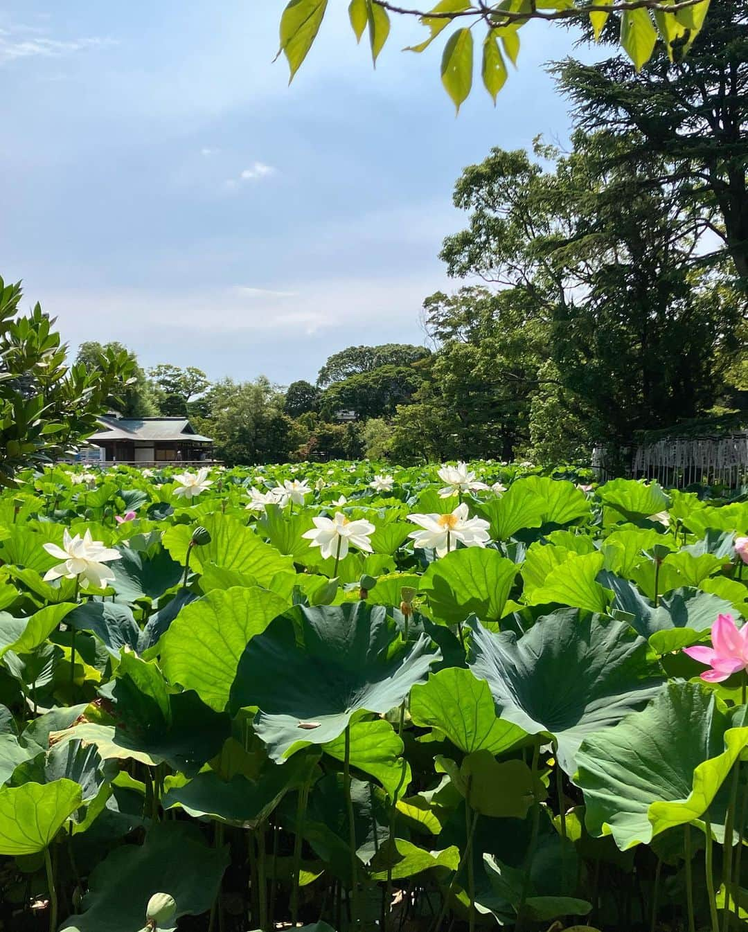
<path id="1" fill-rule="evenodd" d="M 698 261 L 713 205 L 675 197 L 677 178 L 641 185 L 665 172 L 644 152 L 634 171 L 638 144 L 581 132 L 566 156 L 536 144 L 551 170 L 492 150 L 458 181 L 455 204 L 470 225 L 442 250 L 450 274 L 496 283 L 513 295 L 522 326 L 546 330 L 565 390 L 554 404 L 570 397 L 589 412 L 589 442 L 625 444 L 634 431 L 708 410 L 745 313 L 715 300 L 724 270 Z M 556 380 L 516 375 L 528 395 Z"/>

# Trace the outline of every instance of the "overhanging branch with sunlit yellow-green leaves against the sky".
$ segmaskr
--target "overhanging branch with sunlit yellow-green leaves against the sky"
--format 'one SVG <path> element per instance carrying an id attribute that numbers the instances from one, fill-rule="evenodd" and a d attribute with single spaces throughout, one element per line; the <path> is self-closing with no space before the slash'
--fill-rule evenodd
<path id="1" fill-rule="evenodd" d="M 291 78 L 307 56 L 325 17 L 327 0 L 290 0 L 281 18 L 281 50 Z M 391 0 L 352 0 L 349 17 L 356 40 L 368 30 L 371 57 L 376 64 L 390 34 L 390 13 L 418 17 L 429 35 L 409 51 L 422 52 L 453 22 L 441 58 L 441 80 L 459 110 L 473 84 L 473 31 L 485 28 L 481 76 L 494 102 L 506 82 L 506 58 L 517 62 L 519 29 L 533 20 L 548 22 L 588 21 L 600 34 L 611 13 L 620 15 L 619 41 L 635 67 L 652 55 L 658 36 L 673 59 L 681 61 L 699 34 L 709 0 L 442 0 L 432 9 L 402 7 Z M 711 15 L 711 14 L 710 14 Z M 478 30 L 476 30 L 478 32 Z M 501 48 L 499 47 L 501 42 Z M 503 48 L 503 53 L 502 53 Z"/>

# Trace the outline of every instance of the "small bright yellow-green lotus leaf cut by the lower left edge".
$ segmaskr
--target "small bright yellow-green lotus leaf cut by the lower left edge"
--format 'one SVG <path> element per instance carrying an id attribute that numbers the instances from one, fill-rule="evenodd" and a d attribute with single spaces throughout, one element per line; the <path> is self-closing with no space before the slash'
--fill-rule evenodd
<path id="1" fill-rule="evenodd" d="M 72 780 L 0 788 L 0 855 L 43 851 L 80 802 Z"/>

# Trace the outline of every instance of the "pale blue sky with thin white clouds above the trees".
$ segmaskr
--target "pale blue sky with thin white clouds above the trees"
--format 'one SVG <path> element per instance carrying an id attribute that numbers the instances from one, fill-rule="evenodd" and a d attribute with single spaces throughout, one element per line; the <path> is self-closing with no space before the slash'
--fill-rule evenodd
<path id="1" fill-rule="evenodd" d="M 421 343 L 455 179 L 492 145 L 565 140 L 539 23 L 494 108 L 455 118 L 440 44 L 396 23 L 377 71 L 332 0 L 293 84 L 275 0 L 6 0 L 0 11 L 0 275 L 71 346 L 142 363 L 313 380 L 359 343 Z M 436 48 L 436 46 L 439 48 Z"/>

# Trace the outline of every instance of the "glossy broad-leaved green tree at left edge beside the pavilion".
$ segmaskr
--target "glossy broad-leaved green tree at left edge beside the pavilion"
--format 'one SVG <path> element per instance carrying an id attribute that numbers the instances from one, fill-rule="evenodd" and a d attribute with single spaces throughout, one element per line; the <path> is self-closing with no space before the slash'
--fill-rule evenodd
<path id="1" fill-rule="evenodd" d="M 21 283 L 0 279 L 0 485 L 19 470 L 75 450 L 98 430 L 110 396 L 127 386 L 128 354 L 106 350 L 89 368 L 68 367 L 54 320 L 36 304 L 19 314 Z"/>

